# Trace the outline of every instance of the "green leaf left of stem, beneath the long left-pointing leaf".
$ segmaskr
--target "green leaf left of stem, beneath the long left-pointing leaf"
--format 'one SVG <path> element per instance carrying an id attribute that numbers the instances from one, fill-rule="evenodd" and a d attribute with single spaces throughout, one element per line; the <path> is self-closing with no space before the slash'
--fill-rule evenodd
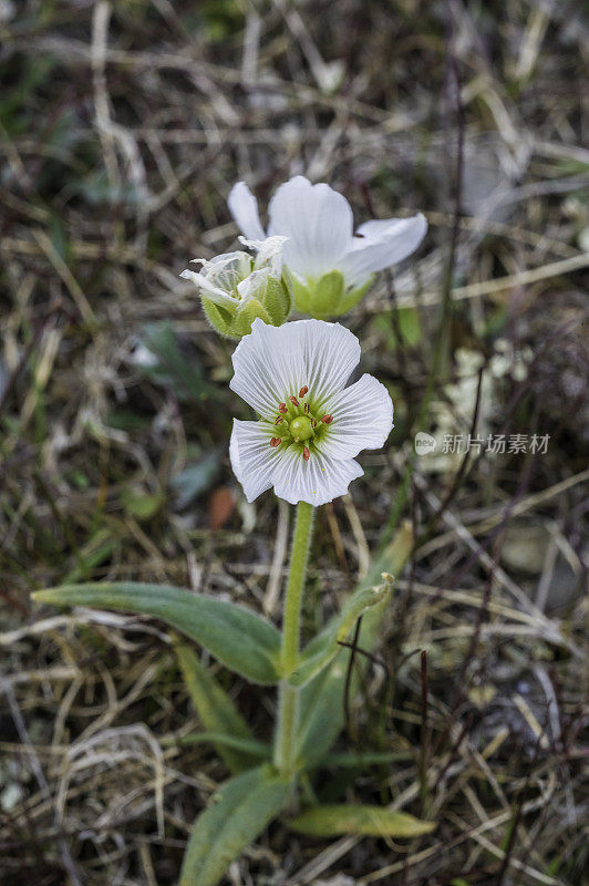
<path id="1" fill-rule="evenodd" d="M 231 699 L 221 689 L 213 674 L 200 663 L 190 647 L 177 639 L 174 642 L 184 681 L 194 707 L 205 729 L 231 739 L 252 741 L 254 735 L 236 710 Z M 231 772 L 242 772 L 251 765 L 251 755 L 225 742 L 213 742 Z"/>

